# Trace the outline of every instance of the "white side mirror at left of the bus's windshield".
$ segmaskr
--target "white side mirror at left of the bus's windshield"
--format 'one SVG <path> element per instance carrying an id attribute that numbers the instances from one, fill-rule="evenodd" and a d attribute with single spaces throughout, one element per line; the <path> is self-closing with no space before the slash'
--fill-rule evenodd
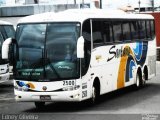
<path id="1" fill-rule="evenodd" d="M 8 38 L 2 45 L 2 59 L 9 59 L 9 46 L 12 43 L 12 38 Z"/>

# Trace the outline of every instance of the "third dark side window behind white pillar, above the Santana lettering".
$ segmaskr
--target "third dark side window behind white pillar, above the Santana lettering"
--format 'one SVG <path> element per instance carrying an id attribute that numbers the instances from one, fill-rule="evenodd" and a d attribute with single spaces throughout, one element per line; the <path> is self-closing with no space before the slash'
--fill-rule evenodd
<path id="1" fill-rule="evenodd" d="M 123 33 L 122 33 L 122 22 L 121 21 L 114 21 L 113 24 L 113 35 L 115 42 L 122 42 L 123 41 Z"/>

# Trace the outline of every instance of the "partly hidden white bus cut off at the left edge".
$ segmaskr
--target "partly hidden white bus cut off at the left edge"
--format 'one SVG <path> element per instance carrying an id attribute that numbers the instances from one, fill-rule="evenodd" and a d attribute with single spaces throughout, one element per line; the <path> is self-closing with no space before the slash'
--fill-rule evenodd
<path id="1" fill-rule="evenodd" d="M 0 83 L 9 80 L 9 61 L 2 59 L 2 44 L 7 38 L 14 38 L 15 29 L 11 23 L 0 20 Z"/>

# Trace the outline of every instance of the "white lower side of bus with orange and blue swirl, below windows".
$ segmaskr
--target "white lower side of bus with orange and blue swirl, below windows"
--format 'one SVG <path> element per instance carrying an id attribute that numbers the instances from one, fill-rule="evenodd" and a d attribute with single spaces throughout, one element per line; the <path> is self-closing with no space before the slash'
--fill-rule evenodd
<path id="1" fill-rule="evenodd" d="M 135 84 L 138 67 L 143 71 L 145 65 L 149 66 L 150 74 L 155 73 L 154 43 L 139 41 L 95 48 L 91 71 L 100 79 L 101 94 Z"/>

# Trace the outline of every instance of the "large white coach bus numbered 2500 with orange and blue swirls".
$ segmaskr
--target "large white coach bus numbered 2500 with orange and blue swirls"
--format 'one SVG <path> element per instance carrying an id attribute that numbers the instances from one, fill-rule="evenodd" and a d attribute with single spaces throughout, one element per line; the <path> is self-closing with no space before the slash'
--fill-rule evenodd
<path id="1" fill-rule="evenodd" d="M 15 99 L 42 108 L 48 101 L 94 103 L 102 94 L 141 87 L 156 75 L 155 39 L 151 15 L 97 9 L 25 17 L 14 42 Z"/>

